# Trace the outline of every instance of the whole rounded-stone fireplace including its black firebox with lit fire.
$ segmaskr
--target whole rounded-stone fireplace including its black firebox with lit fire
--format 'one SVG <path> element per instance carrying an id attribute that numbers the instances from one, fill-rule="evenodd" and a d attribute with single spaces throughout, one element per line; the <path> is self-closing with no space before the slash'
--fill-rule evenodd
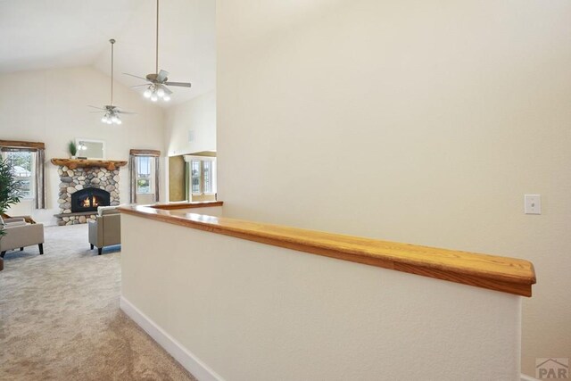
<path id="1" fill-rule="evenodd" d="M 119 205 L 119 169 L 104 167 L 58 168 L 60 214 L 58 225 L 85 224 L 95 220 L 98 206 Z"/>

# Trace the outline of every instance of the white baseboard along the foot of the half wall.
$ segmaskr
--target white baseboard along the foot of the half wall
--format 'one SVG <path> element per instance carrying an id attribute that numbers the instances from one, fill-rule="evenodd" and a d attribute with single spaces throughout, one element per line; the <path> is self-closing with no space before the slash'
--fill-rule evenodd
<path id="1" fill-rule="evenodd" d="M 177 360 L 180 365 L 185 367 L 199 381 L 224 381 L 224 378 L 216 374 L 203 361 L 199 360 L 194 354 L 188 351 L 182 344 L 178 343 L 171 335 L 166 333 L 161 327 L 149 319 L 142 311 L 139 311 L 125 297 L 120 298 L 120 309 L 124 311 L 129 318 L 133 319 L 137 325 L 145 330 L 147 334 L 153 337 L 154 341 L 161 345 L 165 351 L 169 352 L 172 357 Z"/>

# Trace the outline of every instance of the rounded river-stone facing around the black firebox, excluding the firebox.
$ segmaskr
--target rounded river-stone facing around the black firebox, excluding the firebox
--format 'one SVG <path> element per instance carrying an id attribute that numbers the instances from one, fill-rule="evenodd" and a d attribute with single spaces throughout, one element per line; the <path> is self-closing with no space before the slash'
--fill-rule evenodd
<path id="1" fill-rule="evenodd" d="M 119 170 L 107 170 L 100 167 L 85 167 L 70 170 L 68 167 L 60 167 L 57 170 L 60 175 L 60 193 L 58 203 L 60 214 L 71 213 L 71 195 L 83 188 L 100 188 L 110 194 L 110 204 L 119 205 Z M 85 224 L 95 220 L 96 212 L 87 215 L 58 216 L 58 225 Z"/>

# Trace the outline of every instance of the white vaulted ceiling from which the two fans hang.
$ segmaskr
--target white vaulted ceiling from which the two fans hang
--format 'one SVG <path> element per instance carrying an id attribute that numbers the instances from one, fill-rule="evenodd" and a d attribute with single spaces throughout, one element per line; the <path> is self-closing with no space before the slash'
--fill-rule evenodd
<path id="1" fill-rule="evenodd" d="M 160 5 L 159 70 L 193 85 L 172 87 L 179 104 L 215 87 L 215 0 Z M 145 83 L 121 73 L 154 72 L 155 12 L 156 0 L 0 0 L 0 73 L 93 65 L 110 75 L 115 38 L 115 79 Z"/>

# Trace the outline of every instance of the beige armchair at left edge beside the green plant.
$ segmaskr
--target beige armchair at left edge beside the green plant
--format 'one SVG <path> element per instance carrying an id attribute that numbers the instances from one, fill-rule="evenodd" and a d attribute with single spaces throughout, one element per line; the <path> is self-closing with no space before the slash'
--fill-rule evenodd
<path id="1" fill-rule="evenodd" d="M 0 238 L 0 257 L 8 250 L 37 244 L 40 255 L 44 253 L 44 225 L 27 224 L 25 219 L 4 219 L 5 236 Z"/>

